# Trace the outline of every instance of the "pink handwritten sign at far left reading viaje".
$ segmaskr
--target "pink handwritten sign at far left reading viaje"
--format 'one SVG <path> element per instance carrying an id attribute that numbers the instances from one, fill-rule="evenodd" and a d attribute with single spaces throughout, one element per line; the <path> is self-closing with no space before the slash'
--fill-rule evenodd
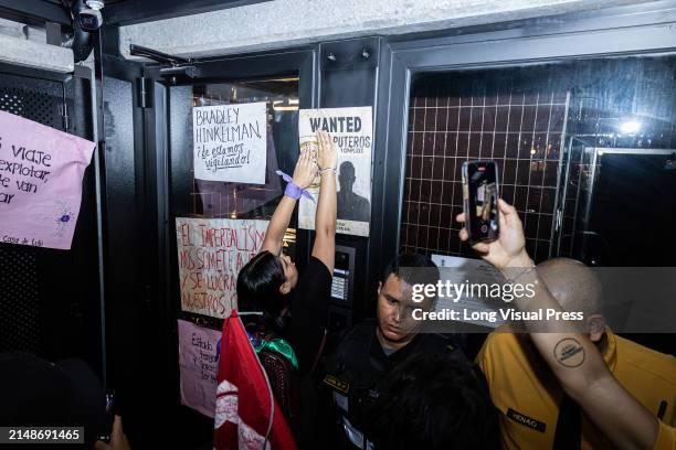
<path id="1" fill-rule="evenodd" d="M 70 249 L 94 142 L 0 111 L 0 242 Z"/>

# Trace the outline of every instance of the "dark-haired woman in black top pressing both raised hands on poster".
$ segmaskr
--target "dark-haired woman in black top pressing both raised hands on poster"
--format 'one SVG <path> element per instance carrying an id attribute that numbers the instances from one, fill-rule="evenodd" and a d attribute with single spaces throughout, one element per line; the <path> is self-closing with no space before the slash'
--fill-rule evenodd
<path id="1" fill-rule="evenodd" d="M 300 154 L 293 180 L 273 214 L 261 253 L 237 277 L 239 310 L 253 312 L 244 323 L 254 349 L 282 353 L 300 373 L 307 372 L 320 346 L 326 326 L 336 254 L 336 146 L 319 131 L 317 162 Z M 282 239 L 296 202 L 319 174 L 320 188 L 315 215 L 316 237 L 311 257 L 302 276 L 287 255 Z"/>

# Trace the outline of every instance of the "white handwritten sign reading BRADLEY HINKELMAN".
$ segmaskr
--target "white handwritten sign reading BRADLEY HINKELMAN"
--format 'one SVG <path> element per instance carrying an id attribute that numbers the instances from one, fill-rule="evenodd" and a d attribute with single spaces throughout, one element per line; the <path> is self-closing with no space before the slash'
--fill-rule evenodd
<path id="1" fill-rule="evenodd" d="M 192 109 L 194 178 L 265 184 L 265 101 Z"/>

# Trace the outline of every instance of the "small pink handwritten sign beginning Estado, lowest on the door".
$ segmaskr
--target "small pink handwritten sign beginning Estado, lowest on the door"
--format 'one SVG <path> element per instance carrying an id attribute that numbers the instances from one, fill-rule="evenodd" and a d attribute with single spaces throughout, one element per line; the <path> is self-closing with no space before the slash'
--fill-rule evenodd
<path id="1" fill-rule="evenodd" d="M 178 321 L 181 404 L 213 417 L 221 333 Z"/>

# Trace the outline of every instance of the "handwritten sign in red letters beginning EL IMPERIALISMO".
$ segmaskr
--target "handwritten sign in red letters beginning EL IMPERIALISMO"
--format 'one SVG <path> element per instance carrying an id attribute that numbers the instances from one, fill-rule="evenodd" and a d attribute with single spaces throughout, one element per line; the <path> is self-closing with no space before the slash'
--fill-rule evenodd
<path id="1" fill-rule="evenodd" d="M 225 318 L 236 308 L 240 269 L 258 251 L 267 221 L 176 218 L 181 308 Z"/>

